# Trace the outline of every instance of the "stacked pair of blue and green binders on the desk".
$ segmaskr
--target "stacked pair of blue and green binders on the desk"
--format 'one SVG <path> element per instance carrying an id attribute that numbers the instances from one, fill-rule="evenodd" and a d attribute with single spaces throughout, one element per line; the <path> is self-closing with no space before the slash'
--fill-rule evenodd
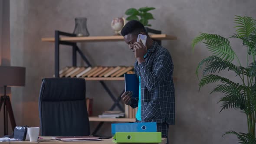
<path id="1" fill-rule="evenodd" d="M 115 143 L 161 143 L 156 122 L 112 124 Z"/>

